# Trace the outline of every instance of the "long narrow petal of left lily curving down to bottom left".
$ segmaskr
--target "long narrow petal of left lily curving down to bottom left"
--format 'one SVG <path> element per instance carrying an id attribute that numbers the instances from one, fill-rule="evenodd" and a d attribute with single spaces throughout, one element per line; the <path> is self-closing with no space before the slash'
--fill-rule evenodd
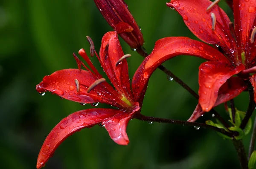
<path id="1" fill-rule="evenodd" d="M 55 149 L 70 135 L 86 127 L 92 127 L 118 113 L 115 109 L 87 109 L 75 112 L 60 121 L 46 137 L 38 155 L 37 168 L 47 163 Z"/>

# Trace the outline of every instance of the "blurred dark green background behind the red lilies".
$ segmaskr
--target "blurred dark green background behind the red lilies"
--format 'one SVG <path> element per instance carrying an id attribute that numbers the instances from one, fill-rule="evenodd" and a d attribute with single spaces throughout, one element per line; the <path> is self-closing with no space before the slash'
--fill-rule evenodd
<path id="1" fill-rule="evenodd" d="M 167 0 L 128 1 L 128 7 L 141 27 L 148 53 L 156 40 L 168 36 L 196 37 L 189 32 Z M 231 10 L 221 7 L 229 14 Z M 46 93 L 40 96 L 35 85 L 59 69 L 76 68 L 72 53 L 84 48 L 89 52 L 86 36 L 99 51 L 105 32 L 111 27 L 97 10 L 93 0 L 1 0 L 0 1 L 0 168 L 35 169 L 38 152 L 51 129 L 70 113 L 92 108 L 81 106 Z M 132 78 L 143 61 L 121 40 Z M 96 59 L 94 65 L 102 69 Z M 164 65 L 198 91 L 198 66 L 204 60 L 179 56 Z M 102 72 L 103 74 L 103 72 Z M 152 75 L 142 114 L 187 120 L 197 100 L 166 74 Z M 235 99 L 236 107 L 245 111 L 248 94 Z M 99 107 L 107 107 L 99 104 Z M 217 110 L 227 119 L 224 106 Z M 207 113 L 199 119 L 212 119 Z M 148 124 L 132 120 L 128 125 L 128 146 L 119 146 L 103 127 L 83 129 L 55 152 L 45 169 L 239 169 L 236 151 L 209 129 L 164 123 Z M 244 138 L 248 149 L 250 136 Z"/>

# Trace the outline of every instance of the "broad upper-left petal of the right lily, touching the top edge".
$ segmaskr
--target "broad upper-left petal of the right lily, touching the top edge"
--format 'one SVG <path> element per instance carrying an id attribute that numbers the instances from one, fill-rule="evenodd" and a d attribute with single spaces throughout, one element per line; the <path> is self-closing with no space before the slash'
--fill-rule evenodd
<path id="1" fill-rule="evenodd" d="M 224 47 L 227 52 L 233 49 L 235 41 L 229 30 L 230 19 L 218 6 L 206 11 L 212 2 L 210 0 L 171 0 L 167 6 L 175 8 L 183 17 L 186 26 L 199 39 L 206 43 Z M 212 30 L 211 14 L 216 17 L 215 30 Z"/>

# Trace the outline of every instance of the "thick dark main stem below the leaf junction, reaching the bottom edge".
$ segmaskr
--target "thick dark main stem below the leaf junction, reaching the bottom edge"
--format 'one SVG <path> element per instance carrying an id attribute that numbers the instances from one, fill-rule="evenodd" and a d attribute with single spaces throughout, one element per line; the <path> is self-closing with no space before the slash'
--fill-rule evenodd
<path id="1" fill-rule="evenodd" d="M 233 141 L 233 145 L 235 146 L 242 169 L 248 169 L 248 160 L 247 160 L 247 156 L 246 156 L 246 152 L 245 152 L 244 144 L 242 140 L 234 139 L 232 141 Z"/>

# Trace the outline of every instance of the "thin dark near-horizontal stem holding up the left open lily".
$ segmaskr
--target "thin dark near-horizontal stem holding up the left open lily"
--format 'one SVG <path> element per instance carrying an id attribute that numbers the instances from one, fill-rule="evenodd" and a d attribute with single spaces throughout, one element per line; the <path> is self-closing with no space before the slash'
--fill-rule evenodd
<path id="1" fill-rule="evenodd" d="M 214 126 L 207 125 L 205 123 L 197 123 L 197 122 L 188 122 L 188 121 L 182 121 L 182 120 L 172 120 L 172 119 L 166 119 L 166 118 L 159 118 L 159 117 L 149 117 L 142 114 L 136 114 L 135 117 L 138 120 L 148 121 L 148 122 L 157 122 L 157 123 L 172 123 L 172 124 L 180 124 L 183 126 L 196 126 L 196 127 L 202 127 L 207 129 L 213 129 L 216 132 L 221 132 L 224 135 L 227 135 L 229 137 L 234 137 L 236 135 L 235 132 L 227 132 L 224 129 L 219 129 Z"/>

